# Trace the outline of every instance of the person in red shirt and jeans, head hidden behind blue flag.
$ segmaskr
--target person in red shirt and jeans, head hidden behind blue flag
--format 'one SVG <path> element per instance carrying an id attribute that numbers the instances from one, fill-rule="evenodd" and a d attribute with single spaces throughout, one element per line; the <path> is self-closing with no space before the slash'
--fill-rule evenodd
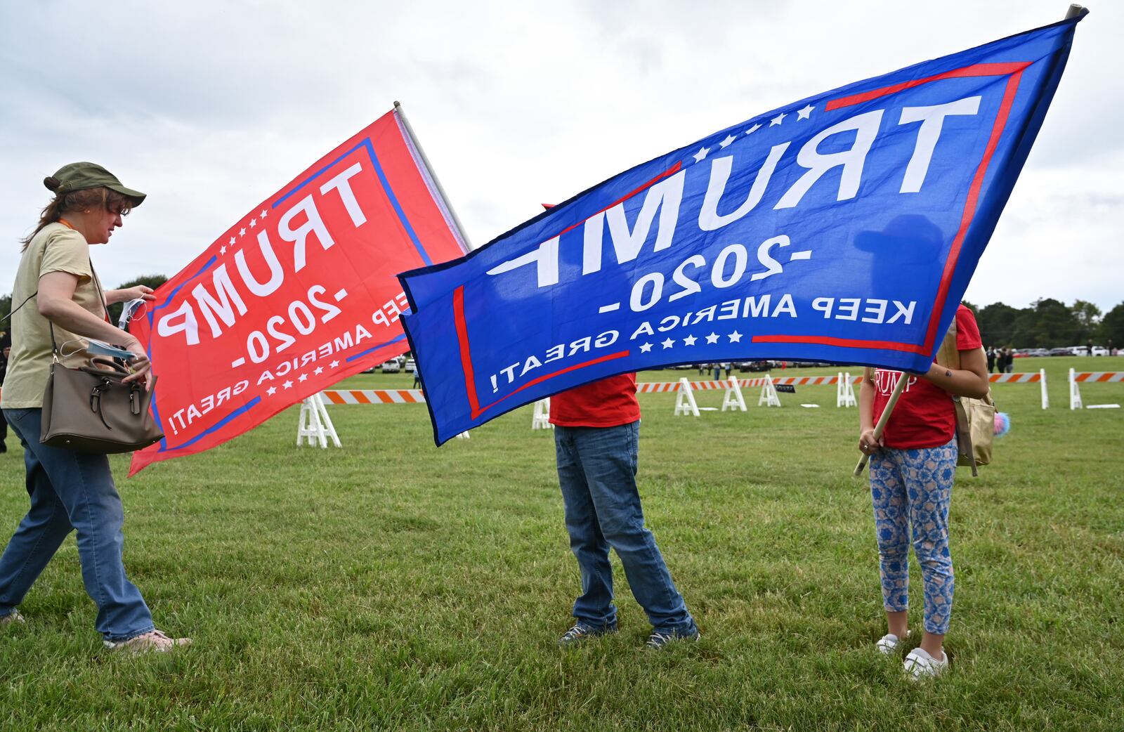
<path id="1" fill-rule="evenodd" d="M 647 645 L 696 640 L 698 627 L 668 566 L 644 527 L 636 489 L 640 403 L 636 374 L 624 373 L 551 397 L 551 423 L 570 549 L 581 569 L 581 595 L 573 627 L 559 643 L 571 645 L 617 630 L 609 548 L 624 564 L 628 586 L 644 608 L 652 634 Z"/>

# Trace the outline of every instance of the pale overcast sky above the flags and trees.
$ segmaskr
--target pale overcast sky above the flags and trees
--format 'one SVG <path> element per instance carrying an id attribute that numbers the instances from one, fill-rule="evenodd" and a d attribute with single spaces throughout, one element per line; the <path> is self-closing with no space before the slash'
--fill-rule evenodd
<path id="1" fill-rule="evenodd" d="M 106 283 L 170 277 L 399 99 L 479 246 L 723 127 L 1067 7 L 6 0 L 0 292 L 43 178 L 76 160 L 148 193 L 94 250 Z M 1124 300 L 1124 8 L 1090 10 L 968 289 L 979 305 Z"/>

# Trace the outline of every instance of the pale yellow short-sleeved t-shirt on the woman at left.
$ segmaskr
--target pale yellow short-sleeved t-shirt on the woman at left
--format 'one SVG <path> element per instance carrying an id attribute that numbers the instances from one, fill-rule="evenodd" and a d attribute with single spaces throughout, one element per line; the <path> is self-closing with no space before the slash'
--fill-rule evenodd
<path id="1" fill-rule="evenodd" d="M 51 272 L 78 277 L 74 301 L 98 317 L 105 317 L 101 296 L 90 266 L 90 245 L 85 237 L 62 224 L 47 224 L 27 245 L 16 271 L 11 290 L 12 307 L 18 307 L 39 288 L 39 278 Z M 69 367 L 89 361 L 85 341 L 55 326 L 55 343 Z M 51 373 L 51 329 L 39 315 L 35 298 L 11 316 L 11 355 L 0 394 L 0 406 L 20 409 L 43 406 L 43 389 Z"/>

